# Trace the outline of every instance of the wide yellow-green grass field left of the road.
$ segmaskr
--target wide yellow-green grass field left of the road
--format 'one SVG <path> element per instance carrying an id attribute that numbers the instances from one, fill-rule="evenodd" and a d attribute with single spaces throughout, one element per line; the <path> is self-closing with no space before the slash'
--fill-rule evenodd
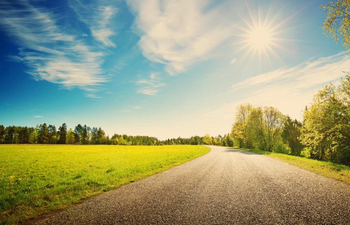
<path id="1" fill-rule="evenodd" d="M 0 224 L 62 209 L 209 151 L 184 145 L 0 145 Z"/>

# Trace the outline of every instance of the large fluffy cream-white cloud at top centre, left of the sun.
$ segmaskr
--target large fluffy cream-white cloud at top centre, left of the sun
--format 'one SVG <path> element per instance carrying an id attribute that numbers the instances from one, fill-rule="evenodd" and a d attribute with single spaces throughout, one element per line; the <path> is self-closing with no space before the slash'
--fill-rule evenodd
<path id="1" fill-rule="evenodd" d="M 212 53 L 232 37 L 230 14 L 225 5 L 211 7 L 202 0 L 128 0 L 136 14 L 139 47 L 153 62 L 167 64 L 173 75 Z"/>

